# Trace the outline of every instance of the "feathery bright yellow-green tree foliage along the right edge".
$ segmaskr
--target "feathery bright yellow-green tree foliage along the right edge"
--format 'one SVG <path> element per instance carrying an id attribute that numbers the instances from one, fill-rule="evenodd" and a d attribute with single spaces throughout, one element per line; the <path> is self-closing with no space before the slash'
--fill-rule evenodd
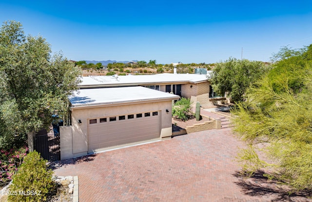
<path id="1" fill-rule="evenodd" d="M 249 144 L 240 156 L 246 170 L 272 167 L 274 177 L 304 189 L 312 187 L 312 45 L 299 52 L 281 49 L 281 60 L 247 90 L 233 121 Z M 267 161 L 255 152 L 259 145 Z"/>

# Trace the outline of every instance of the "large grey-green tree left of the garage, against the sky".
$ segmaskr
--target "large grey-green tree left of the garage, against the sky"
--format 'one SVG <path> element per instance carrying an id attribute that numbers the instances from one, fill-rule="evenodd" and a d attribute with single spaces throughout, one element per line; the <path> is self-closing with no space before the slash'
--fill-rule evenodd
<path id="1" fill-rule="evenodd" d="M 28 132 L 48 129 L 52 115 L 67 112 L 68 96 L 80 82 L 80 69 L 61 53 L 50 53 L 46 40 L 26 37 L 19 22 L 7 21 L 1 26 L 1 148 L 19 147 Z"/>

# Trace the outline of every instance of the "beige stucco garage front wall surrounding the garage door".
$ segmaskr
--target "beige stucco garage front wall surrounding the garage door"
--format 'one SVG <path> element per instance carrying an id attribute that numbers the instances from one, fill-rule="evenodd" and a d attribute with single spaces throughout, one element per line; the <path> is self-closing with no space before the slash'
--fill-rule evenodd
<path id="1" fill-rule="evenodd" d="M 118 106 L 102 106 L 95 108 L 75 109 L 72 108 L 72 155 L 78 157 L 86 155 L 88 151 L 88 124 L 90 118 L 111 117 L 117 115 L 135 114 L 138 112 L 160 111 L 160 134 L 159 139 L 171 137 L 172 135 L 172 101 L 158 101 L 149 103 L 127 104 Z M 166 109 L 169 113 L 166 113 Z M 81 120 L 81 125 L 78 120 Z M 68 133 L 68 132 L 66 132 Z M 62 136 L 62 133 L 60 133 Z M 68 141 L 64 137 L 63 141 Z M 67 154 L 66 154 L 67 155 Z M 70 157 L 70 155 L 69 155 Z M 62 156 L 61 156 L 62 158 Z"/>

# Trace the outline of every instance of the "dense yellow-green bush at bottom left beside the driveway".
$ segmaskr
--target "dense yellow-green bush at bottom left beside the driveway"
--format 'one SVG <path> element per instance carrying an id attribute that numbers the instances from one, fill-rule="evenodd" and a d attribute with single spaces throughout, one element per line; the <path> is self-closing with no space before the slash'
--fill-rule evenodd
<path id="1" fill-rule="evenodd" d="M 9 195 L 8 202 L 46 201 L 47 194 L 56 188 L 52 174 L 53 171 L 47 169 L 46 161 L 39 153 L 30 152 L 24 158 L 19 172 L 13 176 L 13 183 L 9 186 L 11 192 L 17 191 L 18 194 Z"/>

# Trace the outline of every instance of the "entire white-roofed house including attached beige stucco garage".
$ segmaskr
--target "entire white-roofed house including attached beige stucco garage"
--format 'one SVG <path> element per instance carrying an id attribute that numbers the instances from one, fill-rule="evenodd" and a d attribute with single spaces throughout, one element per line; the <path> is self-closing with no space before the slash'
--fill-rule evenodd
<path id="1" fill-rule="evenodd" d="M 79 90 L 70 97 L 70 124 L 59 129 L 60 159 L 171 138 L 172 101 L 186 97 L 206 108 L 224 99 L 215 98 L 203 74 L 81 79 Z M 29 135 L 30 143 L 32 138 Z"/>

